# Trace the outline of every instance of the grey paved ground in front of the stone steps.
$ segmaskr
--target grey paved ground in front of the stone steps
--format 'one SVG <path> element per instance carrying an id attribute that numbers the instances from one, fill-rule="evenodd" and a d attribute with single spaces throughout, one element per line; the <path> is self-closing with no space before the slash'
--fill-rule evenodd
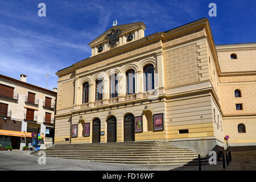
<path id="1" fill-rule="evenodd" d="M 86 160 L 46 158 L 46 164 L 38 164 L 38 156 L 32 156 L 28 151 L 0 151 L 0 171 L 43 171 L 43 170 L 58 170 L 58 171 L 197 171 L 197 166 L 185 167 L 142 167 L 127 164 L 110 164 L 88 162 Z M 222 171 L 222 162 L 217 165 L 202 166 L 202 171 Z M 253 170 L 256 171 L 256 151 L 233 152 L 232 163 L 226 166 L 226 171 L 229 170 Z"/>

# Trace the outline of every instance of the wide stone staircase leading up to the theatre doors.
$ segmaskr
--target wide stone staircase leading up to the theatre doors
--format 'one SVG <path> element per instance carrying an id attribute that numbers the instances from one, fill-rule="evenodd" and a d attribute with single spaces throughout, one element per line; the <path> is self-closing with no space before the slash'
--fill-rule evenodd
<path id="1" fill-rule="evenodd" d="M 139 166 L 198 164 L 197 152 L 159 141 L 55 144 L 47 150 L 36 151 L 33 155 L 38 155 L 40 151 L 46 152 L 46 156 L 51 157 L 102 163 L 138 164 Z M 208 164 L 208 158 L 201 156 L 201 164 Z"/>

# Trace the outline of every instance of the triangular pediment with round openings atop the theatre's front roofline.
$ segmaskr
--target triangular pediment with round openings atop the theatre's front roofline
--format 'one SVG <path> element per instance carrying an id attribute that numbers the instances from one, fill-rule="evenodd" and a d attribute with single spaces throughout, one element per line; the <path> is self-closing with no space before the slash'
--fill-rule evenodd
<path id="1" fill-rule="evenodd" d="M 103 34 L 98 36 L 96 39 L 94 39 L 92 42 L 90 42 L 88 45 L 90 48 L 92 48 L 92 56 L 96 55 L 97 53 L 100 53 L 97 51 L 99 46 L 102 46 L 103 51 L 108 51 L 111 47 L 109 47 L 109 40 L 106 39 L 108 37 L 108 34 L 112 32 L 114 29 L 120 30 L 121 34 L 118 35 L 118 42 L 117 46 L 121 46 L 123 44 L 129 43 L 131 40 L 127 40 L 127 36 L 132 35 L 132 40 L 141 39 L 144 37 L 144 30 L 146 28 L 146 25 L 143 22 L 137 22 L 137 23 L 129 23 L 129 24 L 121 24 L 118 26 L 113 26 L 109 28 L 107 31 L 105 31 Z"/>

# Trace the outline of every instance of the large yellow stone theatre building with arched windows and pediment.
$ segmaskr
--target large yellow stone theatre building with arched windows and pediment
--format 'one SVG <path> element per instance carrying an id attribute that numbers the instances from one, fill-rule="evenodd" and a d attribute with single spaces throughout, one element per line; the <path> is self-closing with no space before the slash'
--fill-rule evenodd
<path id="1" fill-rule="evenodd" d="M 256 145 L 256 44 L 214 44 L 208 19 L 144 36 L 113 26 L 61 69 L 55 143 L 162 140 L 201 154 Z M 171 27 L 170 27 L 171 28 Z"/>

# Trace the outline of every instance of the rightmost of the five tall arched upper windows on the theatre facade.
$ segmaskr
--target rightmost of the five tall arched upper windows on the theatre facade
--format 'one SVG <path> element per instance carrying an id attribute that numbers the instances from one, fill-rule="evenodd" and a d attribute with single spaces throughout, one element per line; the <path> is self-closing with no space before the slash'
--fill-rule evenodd
<path id="1" fill-rule="evenodd" d="M 154 82 L 154 65 L 148 64 L 143 69 L 144 73 L 144 90 L 152 90 L 155 89 Z"/>

